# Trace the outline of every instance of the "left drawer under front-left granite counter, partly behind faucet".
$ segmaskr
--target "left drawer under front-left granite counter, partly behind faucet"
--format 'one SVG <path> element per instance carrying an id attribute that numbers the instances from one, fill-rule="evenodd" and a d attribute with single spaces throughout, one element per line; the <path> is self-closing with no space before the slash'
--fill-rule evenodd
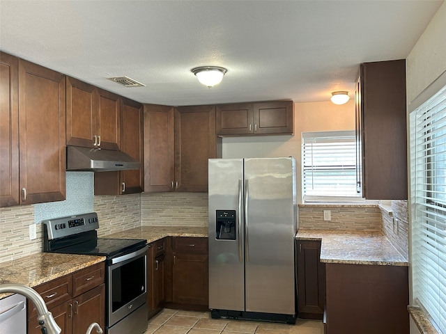
<path id="1" fill-rule="evenodd" d="M 34 288 L 40 296 L 42 296 L 47 308 L 51 309 L 54 306 L 61 303 L 65 303 L 71 299 L 72 292 L 72 276 L 67 275 L 61 278 L 56 278 L 48 283 L 43 283 Z M 33 303 L 28 301 L 28 319 L 31 317 L 37 317 L 36 308 Z"/>

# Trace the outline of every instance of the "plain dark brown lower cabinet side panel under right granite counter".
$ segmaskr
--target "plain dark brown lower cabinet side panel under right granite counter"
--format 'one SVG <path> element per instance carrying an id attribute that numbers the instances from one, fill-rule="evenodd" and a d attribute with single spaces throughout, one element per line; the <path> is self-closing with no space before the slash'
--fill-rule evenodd
<path id="1" fill-rule="evenodd" d="M 327 333 L 409 333 L 408 267 L 326 264 Z"/>

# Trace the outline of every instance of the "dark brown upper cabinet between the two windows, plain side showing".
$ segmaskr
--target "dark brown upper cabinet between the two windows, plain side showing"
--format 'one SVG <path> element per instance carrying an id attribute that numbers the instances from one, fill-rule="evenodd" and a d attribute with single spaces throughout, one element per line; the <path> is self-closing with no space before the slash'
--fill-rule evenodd
<path id="1" fill-rule="evenodd" d="M 355 106 L 358 192 L 407 199 L 406 61 L 361 64 Z"/>

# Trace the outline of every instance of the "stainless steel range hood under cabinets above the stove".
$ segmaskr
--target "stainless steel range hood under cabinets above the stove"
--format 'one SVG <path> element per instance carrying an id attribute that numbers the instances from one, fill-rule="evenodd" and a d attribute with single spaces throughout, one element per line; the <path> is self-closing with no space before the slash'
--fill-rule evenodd
<path id="1" fill-rule="evenodd" d="M 67 146 L 67 170 L 108 172 L 139 169 L 139 161 L 120 151 Z"/>

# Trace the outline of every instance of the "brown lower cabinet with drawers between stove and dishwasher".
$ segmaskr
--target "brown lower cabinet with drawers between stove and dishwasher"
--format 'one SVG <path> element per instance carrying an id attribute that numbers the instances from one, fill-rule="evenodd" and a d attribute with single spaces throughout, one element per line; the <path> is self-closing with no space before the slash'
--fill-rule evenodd
<path id="1" fill-rule="evenodd" d="M 84 334 L 93 322 L 105 329 L 105 264 L 94 264 L 36 287 L 62 334 Z M 28 334 L 41 334 L 36 308 L 28 303 Z"/>

